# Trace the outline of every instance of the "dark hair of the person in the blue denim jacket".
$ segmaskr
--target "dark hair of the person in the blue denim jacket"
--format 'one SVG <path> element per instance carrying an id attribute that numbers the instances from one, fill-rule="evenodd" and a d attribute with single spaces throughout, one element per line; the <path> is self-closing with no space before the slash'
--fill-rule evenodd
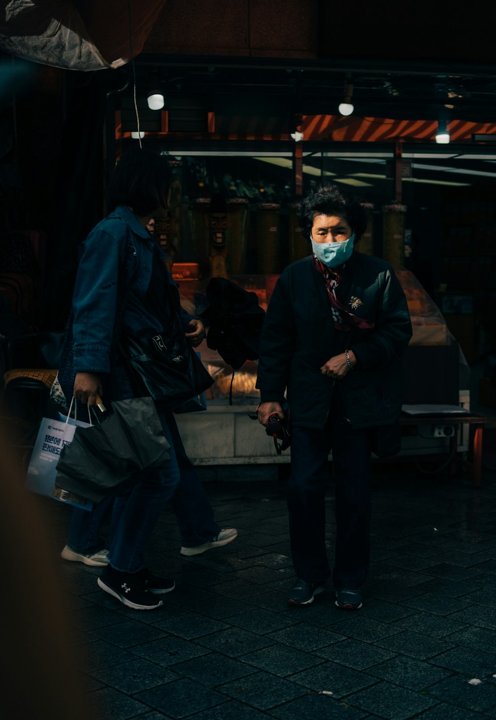
<path id="1" fill-rule="evenodd" d="M 167 207 L 171 168 L 166 157 L 149 150 L 128 150 L 114 168 L 107 188 L 109 207 L 127 205 L 145 216 Z"/>

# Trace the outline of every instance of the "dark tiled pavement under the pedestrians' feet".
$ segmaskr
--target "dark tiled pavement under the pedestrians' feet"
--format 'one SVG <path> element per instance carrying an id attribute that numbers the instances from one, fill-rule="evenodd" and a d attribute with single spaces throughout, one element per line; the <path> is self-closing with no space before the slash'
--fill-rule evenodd
<path id="1" fill-rule="evenodd" d="M 496 477 L 376 477 L 364 608 L 333 593 L 288 608 L 284 487 L 209 484 L 232 544 L 179 555 L 170 510 L 150 568 L 176 579 L 163 608 L 132 611 L 99 570 L 60 560 L 85 688 L 102 720 L 475 720 L 496 716 Z M 54 552 L 69 509 L 40 498 Z M 333 488 L 328 498 L 333 552 Z M 482 680 L 477 685 L 468 681 Z"/>

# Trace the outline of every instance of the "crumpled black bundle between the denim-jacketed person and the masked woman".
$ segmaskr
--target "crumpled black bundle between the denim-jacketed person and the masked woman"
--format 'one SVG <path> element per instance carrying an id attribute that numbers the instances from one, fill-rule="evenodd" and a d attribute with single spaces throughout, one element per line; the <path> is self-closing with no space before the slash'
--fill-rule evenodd
<path id="1" fill-rule="evenodd" d="M 233 370 L 246 360 L 258 359 L 260 333 L 265 311 L 255 292 L 222 277 L 212 277 L 207 285 L 209 307 L 202 319 L 209 323 L 207 346 L 217 350 Z"/>

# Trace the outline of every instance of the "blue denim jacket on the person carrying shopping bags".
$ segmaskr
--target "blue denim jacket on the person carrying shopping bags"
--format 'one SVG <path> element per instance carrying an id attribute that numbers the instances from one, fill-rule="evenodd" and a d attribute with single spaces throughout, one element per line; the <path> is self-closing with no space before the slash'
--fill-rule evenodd
<path id="1" fill-rule="evenodd" d="M 122 332 L 161 333 L 164 328 L 143 306 L 152 272 L 155 240 L 134 213 L 119 205 L 91 230 L 81 246 L 73 293 L 74 372 L 109 373 L 116 319 Z M 166 257 L 159 248 L 161 256 Z M 179 291 L 167 272 L 174 310 L 184 330 L 193 318 L 181 308 Z M 125 303 L 125 306 L 124 306 Z"/>

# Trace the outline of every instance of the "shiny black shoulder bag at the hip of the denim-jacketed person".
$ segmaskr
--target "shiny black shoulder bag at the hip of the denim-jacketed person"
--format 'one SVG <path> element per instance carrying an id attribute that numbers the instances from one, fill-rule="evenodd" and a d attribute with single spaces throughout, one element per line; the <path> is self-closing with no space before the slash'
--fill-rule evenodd
<path id="1" fill-rule="evenodd" d="M 175 315 L 168 331 L 151 338 L 121 336 L 120 352 L 143 395 L 177 408 L 212 387 L 214 380 L 184 337 Z"/>

